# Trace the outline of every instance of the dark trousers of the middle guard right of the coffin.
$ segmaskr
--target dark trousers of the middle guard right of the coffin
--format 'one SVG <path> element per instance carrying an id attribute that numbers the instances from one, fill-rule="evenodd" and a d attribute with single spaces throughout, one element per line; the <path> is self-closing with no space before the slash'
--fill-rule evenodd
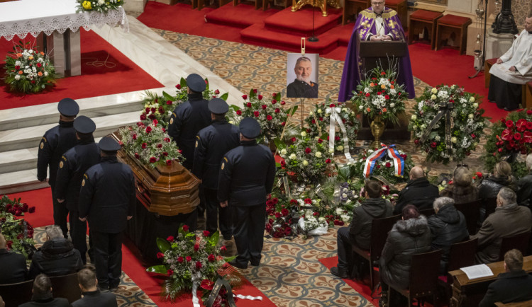
<path id="1" fill-rule="evenodd" d="M 231 220 L 230 207 L 220 207 L 218 202 L 218 190 L 204 188 L 205 204 L 206 204 L 206 230 L 210 233 L 218 231 L 218 226 L 222 236 L 226 239 L 231 239 L 233 236 L 233 227 Z"/>

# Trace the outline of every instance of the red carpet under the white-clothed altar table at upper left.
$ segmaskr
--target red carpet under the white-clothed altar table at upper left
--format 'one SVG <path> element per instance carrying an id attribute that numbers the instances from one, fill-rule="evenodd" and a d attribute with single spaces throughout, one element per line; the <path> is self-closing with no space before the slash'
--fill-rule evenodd
<path id="1" fill-rule="evenodd" d="M 26 37 L 30 40 L 31 35 Z M 33 38 L 33 37 L 31 37 Z M 33 39 L 34 40 L 34 39 Z M 13 39 L 18 42 L 18 37 Z M 0 54 L 12 51 L 13 42 L 0 38 Z M 9 93 L 7 86 L 2 83 L 0 88 L 0 110 L 54 103 L 62 98 L 89 98 L 96 95 L 111 95 L 130 91 L 140 91 L 150 88 L 160 88 L 162 84 L 153 79 L 148 73 L 140 69 L 130 59 L 111 46 L 106 40 L 92 31 L 81 30 L 82 75 L 65 79 L 57 79 L 55 88 L 39 94 L 21 95 Z M 116 66 L 90 66 L 90 62 L 105 61 Z M 4 60 L 0 62 L 4 75 Z M 109 65 L 108 65 L 109 66 Z"/>

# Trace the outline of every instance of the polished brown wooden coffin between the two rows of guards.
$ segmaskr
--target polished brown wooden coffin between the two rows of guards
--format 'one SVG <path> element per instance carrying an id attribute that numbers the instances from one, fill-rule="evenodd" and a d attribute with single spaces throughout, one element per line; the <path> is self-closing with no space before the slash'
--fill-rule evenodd
<path id="1" fill-rule="evenodd" d="M 111 134 L 119 141 L 118 132 Z M 118 151 L 118 161 L 126 163 L 135 175 L 137 199 L 148 209 L 164 216 L 189 214 L 199 204 L 199 184 L 201 180 L 192 175 L 180 163 L 172 166 L 144 166 L 138 159 Z"/>

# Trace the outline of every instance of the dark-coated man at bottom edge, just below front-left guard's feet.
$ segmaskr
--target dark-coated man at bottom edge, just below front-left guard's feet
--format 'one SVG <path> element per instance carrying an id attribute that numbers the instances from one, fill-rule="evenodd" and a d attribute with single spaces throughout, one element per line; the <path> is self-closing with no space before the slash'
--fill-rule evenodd
<path id="1" fill-rule="evenodd" d="M 98 289 L 96 274 L 89 268 L 77 272 L 79 288 L 82 289 L 83 297 L 74 301 L 72 307 L 118 307 L 116 296 L 110 292 L 102 292 Z"/>

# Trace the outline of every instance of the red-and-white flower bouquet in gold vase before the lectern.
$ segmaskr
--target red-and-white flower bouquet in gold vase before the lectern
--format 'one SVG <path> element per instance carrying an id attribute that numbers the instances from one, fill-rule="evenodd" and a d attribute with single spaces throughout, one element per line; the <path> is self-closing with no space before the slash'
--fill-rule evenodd
<path id="1" fill-rule="evenodd" d="M 351 101 L 369 118 L 380 116 L 384 121 L 398 124 L 397 115 L 404 112 L 406 98 L 404 85 L 397 83 L 397 71 L 376 67 L 368 79 L 360 81 Z"/>

